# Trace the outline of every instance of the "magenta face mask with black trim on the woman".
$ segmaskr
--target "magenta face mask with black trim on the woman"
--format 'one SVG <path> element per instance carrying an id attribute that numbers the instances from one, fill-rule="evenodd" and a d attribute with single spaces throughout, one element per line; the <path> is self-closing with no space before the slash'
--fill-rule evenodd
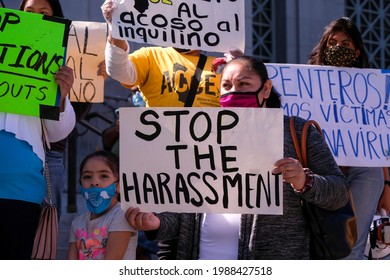
<path id="1" fill-rule="evenodd" d="M 258 95 L 263 90 L 265 83 L 256 91 L 230 91 L 221 95 L 221 107 L 241 107 L 241 108 L 261 108 L 265 103 L 265 98 L 261 104 Z"/>

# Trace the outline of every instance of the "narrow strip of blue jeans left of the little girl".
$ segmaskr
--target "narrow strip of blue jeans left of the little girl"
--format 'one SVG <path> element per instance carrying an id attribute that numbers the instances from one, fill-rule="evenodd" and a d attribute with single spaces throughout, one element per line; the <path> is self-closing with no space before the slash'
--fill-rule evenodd
<path id="1" fill-rule="evenodd" d="M 52 200 L 56 205 L 59 220 L 62 208 L 61 196 L 65 185 L 65 152 L 48 150 L 46 161 L 49 166 Z"/>

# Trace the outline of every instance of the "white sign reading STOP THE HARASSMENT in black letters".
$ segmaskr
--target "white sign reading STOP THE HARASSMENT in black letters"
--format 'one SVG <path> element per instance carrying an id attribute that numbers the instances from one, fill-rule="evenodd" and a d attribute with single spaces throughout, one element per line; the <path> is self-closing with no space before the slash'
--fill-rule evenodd
<path id="1" fill-rule="evenodd" d="M 283 214 L 282 109 L 120 108 L 124 209 Z"/>

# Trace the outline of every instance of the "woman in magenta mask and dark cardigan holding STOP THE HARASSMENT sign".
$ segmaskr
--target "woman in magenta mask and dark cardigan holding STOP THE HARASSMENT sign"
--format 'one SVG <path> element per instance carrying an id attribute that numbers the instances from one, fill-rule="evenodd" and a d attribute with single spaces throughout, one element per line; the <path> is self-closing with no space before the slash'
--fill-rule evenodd
<path id="1" fill-rule="evenodd" d="M 221 74 L 222 107 L 280 108 L 264 63 L 238 57 Z M 305 121 L 296 118 L 301 133 Z M 283 215 L 143 213 L 129 208 L 130 225 L 148 230 L 150 238 L 178 236 L 177 259 L 309 259 L 310 231 L 301 197 L 335 210 L 348 201 L 345 177 L 322 136 L 308 133 L 309 168 L 295 159 L 289 118 L 284 117 L 284 158 L 272 172 L 283 176 Z M 259 143 L 261 145 L 261 143 Z"/>

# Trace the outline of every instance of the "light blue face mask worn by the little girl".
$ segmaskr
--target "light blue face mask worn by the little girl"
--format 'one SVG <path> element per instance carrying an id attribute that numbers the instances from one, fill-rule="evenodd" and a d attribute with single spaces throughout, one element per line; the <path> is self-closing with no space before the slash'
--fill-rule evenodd
<path id="1" fill-rule="evenodd" d="M 101 214 L 107 210 L 112 198 L 116 195 L 116 183 L 105 188 L 84 188 L 81 186 L 81 193 L 87 202 L 88 210 L 93 214 Z"/>

